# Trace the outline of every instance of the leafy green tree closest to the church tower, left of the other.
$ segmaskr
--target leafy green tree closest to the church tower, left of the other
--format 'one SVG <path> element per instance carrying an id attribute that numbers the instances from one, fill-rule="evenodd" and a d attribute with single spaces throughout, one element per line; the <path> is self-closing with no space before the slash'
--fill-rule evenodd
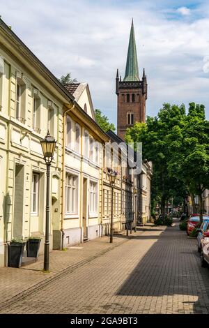
<path id="1" fill-rule="evenodd" d="M 178 178 L 169 176 L 167 136 L 184 116 L 184 106 L 164 104 L 157 117 L 148 117 L 146 124 L 134 124 L 126 133 L 127 142 L 142 142 L 144 159 L 153 162 L 152 197 L 160 199 L 163 215 L 172 191 L 180 185 Z"/>

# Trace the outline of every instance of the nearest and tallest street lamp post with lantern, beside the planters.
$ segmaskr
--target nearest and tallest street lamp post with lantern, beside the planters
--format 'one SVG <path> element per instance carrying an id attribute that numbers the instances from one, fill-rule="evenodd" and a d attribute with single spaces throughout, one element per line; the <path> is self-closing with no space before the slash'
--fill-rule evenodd
<path id="1" fill-rule="evenodd" d="M 44 254 L 44 271 L 49 271 L 49 188 L 50 188 L 50 165 L 53 160 L 54 150 L 56 147 L 56 141 L 49 131 L 45 136 L 45 139 L 40 141 L 42 147 L 42 154 L 44 156 L 47 165 L 47 200 L 46 200 L 46 231 L 45 231 L 45 254 Z"/>

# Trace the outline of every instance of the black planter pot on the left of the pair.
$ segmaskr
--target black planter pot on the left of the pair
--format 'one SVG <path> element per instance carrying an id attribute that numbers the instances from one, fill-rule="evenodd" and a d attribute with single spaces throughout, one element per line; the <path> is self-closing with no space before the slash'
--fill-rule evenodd
<path id="1" fill-rule="evenodd" d="M 8 267 L 21 267 L 25 244 L 12 241 L 8 245 Z"/>

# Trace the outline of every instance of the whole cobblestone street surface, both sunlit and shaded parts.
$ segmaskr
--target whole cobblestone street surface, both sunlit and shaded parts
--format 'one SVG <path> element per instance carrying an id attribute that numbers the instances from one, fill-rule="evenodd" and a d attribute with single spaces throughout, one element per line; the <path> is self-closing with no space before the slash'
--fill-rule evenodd
<path id="1" fill-rule="evenodd" d="M 0 306 L 0 313 L 209 313 L 196 240 L 149 228 Z"/>

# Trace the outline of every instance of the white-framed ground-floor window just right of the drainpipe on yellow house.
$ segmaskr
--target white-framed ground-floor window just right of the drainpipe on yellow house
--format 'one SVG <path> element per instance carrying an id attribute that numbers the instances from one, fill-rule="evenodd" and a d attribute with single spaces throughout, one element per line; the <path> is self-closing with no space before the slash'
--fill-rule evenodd
<path id="1" fill-rule="evenodd" d="M 77 185 L 78 177 L 67 173 L 65 178 L 65 213 L 67 214 L 77 214 Z"/>

